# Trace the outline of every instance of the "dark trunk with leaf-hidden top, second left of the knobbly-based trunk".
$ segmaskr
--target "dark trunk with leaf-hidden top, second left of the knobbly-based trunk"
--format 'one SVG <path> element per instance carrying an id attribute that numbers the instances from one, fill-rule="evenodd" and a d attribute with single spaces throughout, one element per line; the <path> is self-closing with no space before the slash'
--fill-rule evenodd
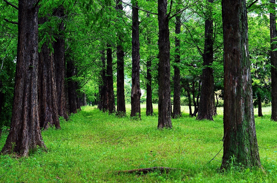
<path id="1" fill-rule="evenodd" d="M 115 112 L 115 94 L 113 92 L 113 57 L 111 45 L 107 44 L 107 70 L 106 79 L 108 85 L 108 111 L 109 114 Z"/>

